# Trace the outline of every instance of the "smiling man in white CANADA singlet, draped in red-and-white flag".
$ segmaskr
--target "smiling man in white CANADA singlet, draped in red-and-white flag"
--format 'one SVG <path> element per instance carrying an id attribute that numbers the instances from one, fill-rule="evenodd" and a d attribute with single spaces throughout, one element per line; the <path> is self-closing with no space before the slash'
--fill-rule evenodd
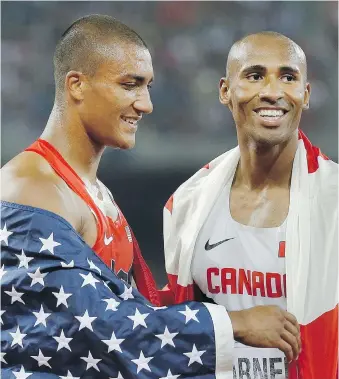
<path id="1" fill-rule="evenodd" d="M 335 378 L 338 166 L 299 130 L 310 99 L 304 52 L 275 32 L 241 39 L 219 98 L 232 112 L 238 147 L 166 204 L 173 301 L 209 298 L 226 307 L 234 379 Z M 249 312 L 260 317 L 238 329 L 233 317 Z"/>

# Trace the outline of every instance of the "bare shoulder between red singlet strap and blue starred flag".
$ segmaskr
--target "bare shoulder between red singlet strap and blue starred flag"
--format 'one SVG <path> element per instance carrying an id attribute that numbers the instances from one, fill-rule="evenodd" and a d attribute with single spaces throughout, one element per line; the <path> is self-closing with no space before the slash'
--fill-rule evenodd
<path id="1" fill-rule="evenodd" d="M 81 228 L 76 197 L 36 153 L 20 153 L 2 167 L 1 200 L 46 209 L 65 218 L 76 230 Z"/>

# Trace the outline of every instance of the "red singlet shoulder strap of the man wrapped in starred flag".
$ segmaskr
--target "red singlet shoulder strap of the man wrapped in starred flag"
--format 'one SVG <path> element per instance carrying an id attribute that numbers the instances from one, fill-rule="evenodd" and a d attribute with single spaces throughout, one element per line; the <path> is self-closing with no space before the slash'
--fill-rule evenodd
<path id="1" fill-rule="evenodd" d="M 33 142 L 33 144 L 25 149 L 25 151 L 33 151 L 45 158 L 53 170 L 67 183 L 67 185 L 90 206 L 97 217 L 98 238 L 100 238 L 103 234 L 104 225 L 106 223 L 105 217 L 86 191 L 85 183 L 65 161 L 62 155 L 49 142 L 40 138 Z"/>

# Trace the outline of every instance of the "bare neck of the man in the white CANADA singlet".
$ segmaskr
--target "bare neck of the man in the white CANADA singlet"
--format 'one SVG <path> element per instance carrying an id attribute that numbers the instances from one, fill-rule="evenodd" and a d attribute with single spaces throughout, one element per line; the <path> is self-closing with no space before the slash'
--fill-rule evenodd
<path id="1" fill-rule="evenodd" d="M 239 139 L 240 162 L 234 184 L 248 189 L 289 188 L 298 132 L 286 142 L 269 146 Z"/>

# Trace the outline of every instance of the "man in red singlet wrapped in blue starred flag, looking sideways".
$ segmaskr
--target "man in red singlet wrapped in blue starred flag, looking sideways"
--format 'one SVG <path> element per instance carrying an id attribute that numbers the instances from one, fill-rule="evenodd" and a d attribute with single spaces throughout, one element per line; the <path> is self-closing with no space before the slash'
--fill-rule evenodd
<path id="1" fill-rule="evenodd" d="M 109 16 L 83 17 L 58 42 L 54 70 L 45 130 L 1 171 L 2 377 L 229 378 L 233 330 L 258 316 L 162 307 L 166 292 L 97 179 L 105 147 L 132 148 L 152 112 L 144 41 Z"/>

